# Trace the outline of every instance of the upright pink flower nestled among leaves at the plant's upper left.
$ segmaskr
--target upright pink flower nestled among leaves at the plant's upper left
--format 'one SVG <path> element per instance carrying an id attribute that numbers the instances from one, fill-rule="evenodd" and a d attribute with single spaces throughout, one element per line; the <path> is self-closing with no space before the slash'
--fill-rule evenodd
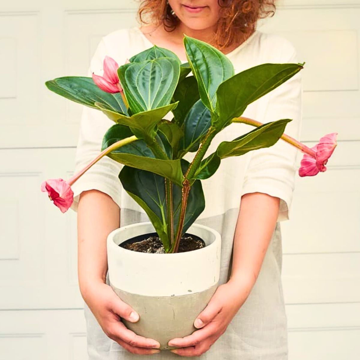
<path id="1" fill-rule="evenodd" d="M 103 62 L 103 76 L 95 75 L 93 73 L 93 80 L 95 84 L 107 93 L 120 93 L 120 91 L 122 91 L 122 87 L 119 83 L 119 77 L 117 75 L 118 67 L 117 62 L 106 55 Z"/>

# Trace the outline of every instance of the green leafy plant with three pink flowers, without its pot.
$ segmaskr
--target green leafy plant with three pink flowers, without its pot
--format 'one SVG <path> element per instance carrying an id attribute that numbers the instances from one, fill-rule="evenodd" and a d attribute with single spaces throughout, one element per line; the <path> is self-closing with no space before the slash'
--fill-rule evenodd
<path id="1" fill-rule="evenodd" d="M 105 133 L 101 153 L 68 181 L 44 181 L 42 191 L 62 212 L 73 202 L 71 185 L 103 156 L 124 166 L 119 179 L 145 210 L 165 252 L 177 252 L 181 236 L 205 207 L 201 180 L 211 177 L 221 159 L 274 145 L 280 138 L 305 153 L 300 176 L 326 170 L 336 135 L 308 148 L 283 134 L 291 119 L 262 124 L 241 117 L 247 105 L 269 93 L 303 64 L 261 64 L 234 74 L 230 60 L 206 42 L 184 37 L 188 62 L 154 45 L 118 66 L 105 57 L 103 76 L 60 77 L 45 84 L 67 99 L 102 111 L 114 125 Z M 187 76 L 192 71 L 192 76 Z M 171 121 L 163 119 L 172 112 Z M 255 129 L 219 144 L 204 158 L 212 139 L 232 122 Z M 99 149 L 100 150 L 100 149 Z M 189 163 L 183 157 L 195 152 Z M 120 186 L 120 184 L 119 184 Z"/>

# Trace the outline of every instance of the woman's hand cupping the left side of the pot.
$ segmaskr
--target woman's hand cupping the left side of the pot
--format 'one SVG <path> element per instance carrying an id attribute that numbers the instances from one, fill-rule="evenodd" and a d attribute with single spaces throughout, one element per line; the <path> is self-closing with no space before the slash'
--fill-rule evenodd
<path id="1" fill-rule="evenodd" d="M 87 284 L 85 289 L 83 286 L 81 294 L 110 339 L 133 354 L 151 355 L 160 351 L 155 350 L 160 347 L 159 342 L 136 335 L 121 322 L 120 318 L 124 318 L 136 323 L 139 321 L 139 315 L 116 295 L 111 286 L 98 280 Z"/>

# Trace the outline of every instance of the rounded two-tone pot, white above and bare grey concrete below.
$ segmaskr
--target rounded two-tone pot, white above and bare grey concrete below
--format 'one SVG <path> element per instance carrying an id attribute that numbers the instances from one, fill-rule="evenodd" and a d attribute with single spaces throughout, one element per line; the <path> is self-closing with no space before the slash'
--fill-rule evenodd
<path id="1" fill-rule="evenodd" d="M 122 319 L 136 334 L 156 339 L 169 349 L 170 339 L 190 335 L 193 323 L 217 288 L 220 275 L 220 234 L 193 224 L 186 233 L 202 238 L 206 247 L 175 254 L 148 254 L 118 246 L 127 239 L 153 233 L 150 222 L 123 226 L 107 237 L 109 283 L 140 315 L 137 323 Z"/>

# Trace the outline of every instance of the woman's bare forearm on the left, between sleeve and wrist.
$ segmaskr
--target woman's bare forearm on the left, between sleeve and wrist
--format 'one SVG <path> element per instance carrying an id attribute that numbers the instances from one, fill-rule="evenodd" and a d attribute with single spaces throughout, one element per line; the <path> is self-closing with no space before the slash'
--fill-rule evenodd
<path id="1" fill-rule="evenodd" d="M 78 279 L 86 296 L 87 284 L 106 281 L 106 239 L 120 226 L 120 208 L 113 199 L 98 190 L 80 194 L 77 210 Z"/>

